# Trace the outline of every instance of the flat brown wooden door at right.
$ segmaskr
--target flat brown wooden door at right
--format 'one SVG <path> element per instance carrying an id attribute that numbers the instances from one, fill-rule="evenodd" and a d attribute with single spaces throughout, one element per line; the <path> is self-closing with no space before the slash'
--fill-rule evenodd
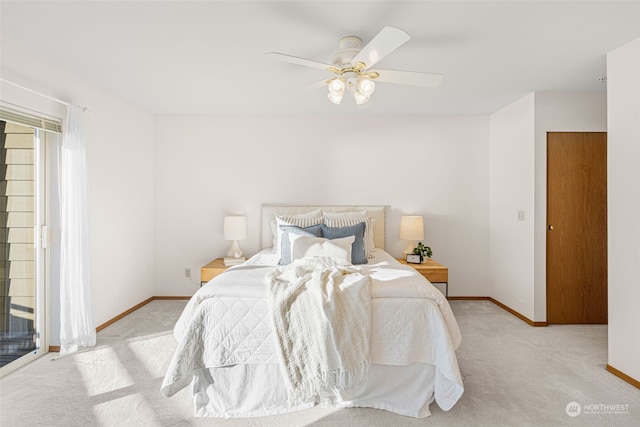
<path id="1" fill-rule="evenodd" d="M 607 323 L 607 134 L 547 134 L 547 323 Z"/>

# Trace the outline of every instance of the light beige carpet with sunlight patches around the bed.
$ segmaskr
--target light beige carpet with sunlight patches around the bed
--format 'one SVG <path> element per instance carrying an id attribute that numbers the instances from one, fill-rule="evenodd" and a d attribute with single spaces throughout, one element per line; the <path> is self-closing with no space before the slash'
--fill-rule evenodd
<path id="1" fill-rule="evenodd" d="M 0 425 L 640 425 L 640 390 L 605 371 L 606 326 L 533 328 L 489 301 L 451 302 L 463 336 L 457 354 L 465 393 L 448 412 L 433 403 L 433 415 L 424 419 L 327 408 L 252 419 L 194 418 L 186 389 L 170 399 L 160 394 L 176 345 L 171 329 L 185 304 L 153 301 L 99 332 L 96 347 L 58 359 L 47 354 L 0 379 Z M 567 415 L 570 402 L 580 405 L 577 417 Z M 619 405 L 618 413 L 604 405 Z"/>

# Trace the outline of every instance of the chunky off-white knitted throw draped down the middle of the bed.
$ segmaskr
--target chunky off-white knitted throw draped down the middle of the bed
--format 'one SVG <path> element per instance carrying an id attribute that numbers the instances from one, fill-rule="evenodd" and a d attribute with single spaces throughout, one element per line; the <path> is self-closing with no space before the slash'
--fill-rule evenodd
<path id="1" fill-rule="evenodd" d="M 330 258 L 302 258 L 267 274 L 276 349 L 293 399 L 347 390 L 369 368 L 369 277 Z"/>

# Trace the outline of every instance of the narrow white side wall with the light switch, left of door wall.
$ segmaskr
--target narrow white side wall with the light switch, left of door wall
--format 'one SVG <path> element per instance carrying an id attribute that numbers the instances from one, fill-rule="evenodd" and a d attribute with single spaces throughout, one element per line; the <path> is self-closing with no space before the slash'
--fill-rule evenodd
<path id="1" fill-rule="evenodd" d="M 529 319 L 534 308 L 534 112 L 530 94 L 490 116 L 490 295 Z"/>

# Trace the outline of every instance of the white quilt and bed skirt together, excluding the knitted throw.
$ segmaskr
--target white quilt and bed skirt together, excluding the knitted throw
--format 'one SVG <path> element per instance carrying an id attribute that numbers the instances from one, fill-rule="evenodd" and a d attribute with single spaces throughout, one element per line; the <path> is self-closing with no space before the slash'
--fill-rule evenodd
<path id="1" fill-rule="evenodd" d="M 316 404 L 429 415 L 449 410 L 464 387 L 455 349 L 461 335 L 446 298 L 422 275 L 381 249 L 360 266 L 371 278 L 371 368 L 353 390 L 295 402 L 287 398 L 269 319 L 263 251 L 203 286 L 174 328 L 178 342 L 161 391 L 191 384 L 199 416 L 272 415 Z"/>

